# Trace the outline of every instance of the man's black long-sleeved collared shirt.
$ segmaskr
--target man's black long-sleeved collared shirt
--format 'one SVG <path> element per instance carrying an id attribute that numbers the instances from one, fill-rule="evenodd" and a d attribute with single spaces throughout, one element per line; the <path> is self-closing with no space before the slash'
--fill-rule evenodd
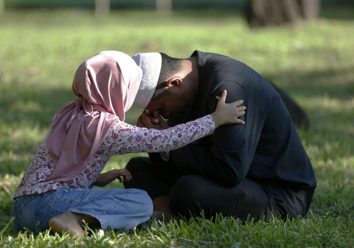
<path id="1" fill-rule="evenodd" d="M 177 125 L 213 113 L 216 96 L 227 90 L 226 103 L 244 100 L 246 114 L 240 119 L 246 124 L 222 125 L 197 143 L 170 151 L 173 163 L 185 174 L 203 175 L 225 186 L 237 186 L 248 178 L 313 192 L 312 165 L 289 111 L 272 85 L 230 57 L 200 51 L 194 56 L 198 56 L 199 70 L 194 111 L 172 117 L 169 123 Z"/>

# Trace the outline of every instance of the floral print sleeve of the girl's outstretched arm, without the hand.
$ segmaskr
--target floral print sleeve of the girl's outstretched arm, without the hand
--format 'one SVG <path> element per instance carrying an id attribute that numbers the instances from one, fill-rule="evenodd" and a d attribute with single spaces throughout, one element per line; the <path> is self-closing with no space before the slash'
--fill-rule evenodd
<path id="1" fill-rule="evenodd" d="M 178 149 L 215 130 L 211 115 L 165 130 L 147 129 L 116 121 L 105 139 L 107 155 L 130 152 L 159 152 Z"/>

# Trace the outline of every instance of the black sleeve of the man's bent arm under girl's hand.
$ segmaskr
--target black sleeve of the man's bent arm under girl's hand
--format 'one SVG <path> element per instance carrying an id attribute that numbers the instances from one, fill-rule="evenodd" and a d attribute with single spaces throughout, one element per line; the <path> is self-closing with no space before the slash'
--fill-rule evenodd
<path id="1" fill-rule="evenodd" d="M 208 109 L 217 106 L 216 96 L 227 90 L 226 103 L 244 100 L 245 125 L 222 125 L 211 135 L 211 146 L 188 145 L 170 151 L 175 165 L 191 174 L 201 174 L 218 183 L 236 186 L 249 171 L 256 151 L 265 115 L 251 93 L 234 81 L 223 81 L 210 94 Z"/>

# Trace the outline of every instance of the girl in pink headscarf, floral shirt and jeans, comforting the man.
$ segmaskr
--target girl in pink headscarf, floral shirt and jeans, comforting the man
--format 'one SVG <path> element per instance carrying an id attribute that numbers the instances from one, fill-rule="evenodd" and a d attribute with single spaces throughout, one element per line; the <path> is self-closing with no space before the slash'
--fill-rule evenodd
<path id="1" fill-rule="evenodd" d="M 143 190 L 92 188 L 120 176 L 125 169 L 101 173 L 110 156 L 129 152 L 177 149 L 213 133 L 226 123 L 243 123 L 241 101 L 225 104 L 224 91 L 216 111 L 195 121 L 165 130 L 139 128 L 124 122 L 142 78 L 127 54 L 105 51 L 80 65 L 73 80 L 75 102 L 53 118 L 13 200 L 17 231 L 70 231 L 83 235 L 85 221 L 103 230 L 130 230 L 147 221 L 153 211 Z M 146 116 L 146 115 L 145 115 Z M 150 121 L 149 117 L 147 120 Z"/>

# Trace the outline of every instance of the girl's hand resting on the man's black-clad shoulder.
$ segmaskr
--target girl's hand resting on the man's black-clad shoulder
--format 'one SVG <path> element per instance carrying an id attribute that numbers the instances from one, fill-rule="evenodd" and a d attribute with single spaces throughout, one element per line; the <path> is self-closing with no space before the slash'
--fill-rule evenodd
<path id="1" fill-rule="evenodd" d="M 240 106 L 243 103 L 243 100 L 238 100 L 233 103 L 225 103 L 226 99 L 226 90 L 223 91 L 221 97 L 216 97 L 218 99 L 218 105 L 216 110 L 211 116 L 214 119 L 215 128 L 224 124 L 241 124 L 244 125 L 245 122 L 238 119 L 246 112 L 246 106 Z"/>

